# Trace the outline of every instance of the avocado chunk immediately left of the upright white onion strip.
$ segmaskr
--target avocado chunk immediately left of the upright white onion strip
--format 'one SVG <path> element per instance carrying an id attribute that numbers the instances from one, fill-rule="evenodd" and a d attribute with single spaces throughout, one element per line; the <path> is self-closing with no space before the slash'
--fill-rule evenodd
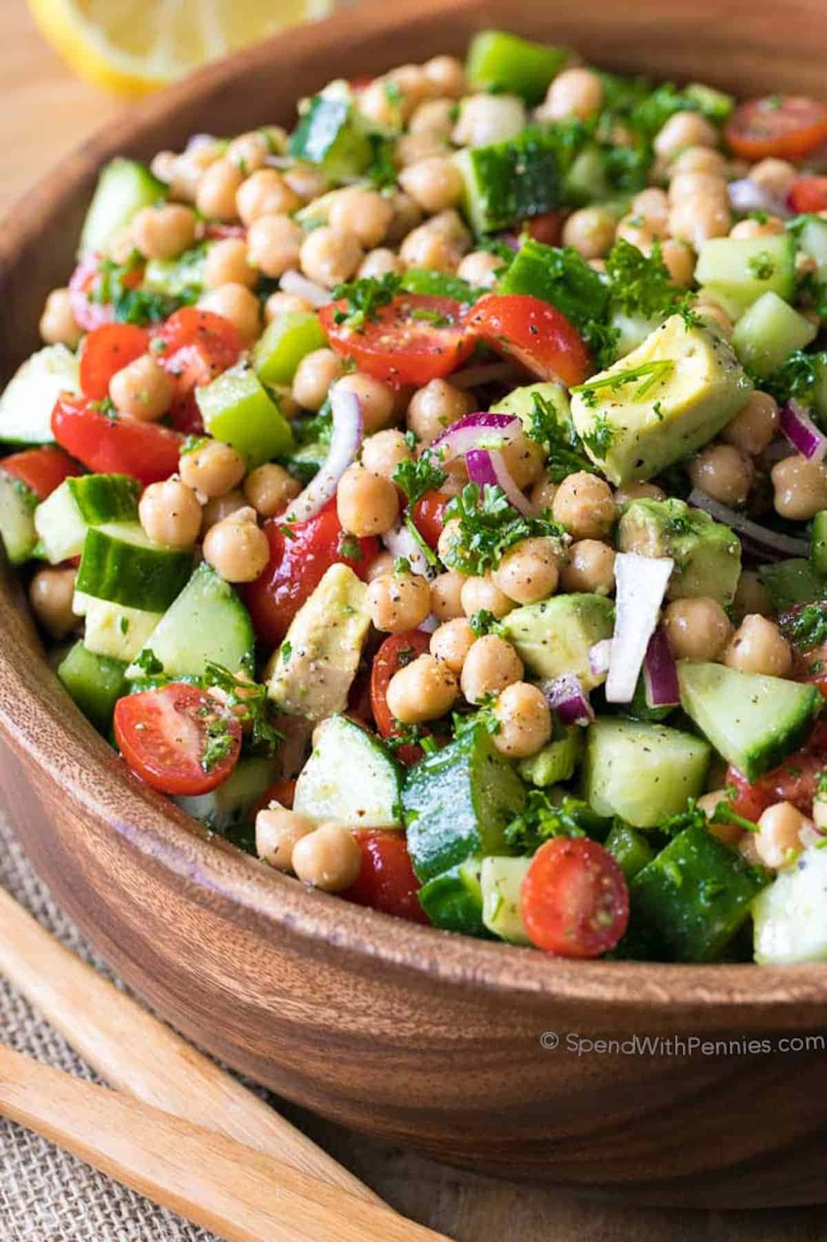
<path id="1" fill-rule="evenodd" d="M 605 679 L 589 661 L 589 650 L 615 628 L 615 605 L 605 595 L 554 595 L 514 609 L 500 626 L 535 677 L 576 673 L 585 691 Z"/>

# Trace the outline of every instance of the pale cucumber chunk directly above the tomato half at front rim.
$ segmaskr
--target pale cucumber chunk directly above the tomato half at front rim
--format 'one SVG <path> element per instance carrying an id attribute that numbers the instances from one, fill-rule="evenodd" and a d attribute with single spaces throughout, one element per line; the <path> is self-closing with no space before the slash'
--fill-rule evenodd
<path id="1" fill-rule="evenodd" d="M 603 718 L 589 725 L 584 797 L 597 815 L 654 828 L 703 792 L 709 746 L 666 724 Z"/>

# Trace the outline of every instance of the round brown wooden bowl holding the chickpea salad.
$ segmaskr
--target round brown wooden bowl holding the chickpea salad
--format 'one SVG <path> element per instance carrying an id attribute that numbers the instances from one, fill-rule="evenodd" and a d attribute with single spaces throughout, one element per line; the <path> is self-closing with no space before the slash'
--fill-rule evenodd
<path id="1" fill-rule="evenodd" d="M 150 98 L 27 195 L 0 236 L 4 378 L 67 278 L 103 160 L 291 123 L 296 98 L 334 76 L 462 51 L 489 25 L 623 71 L 822 91 L 817 0 L 348 9 Z M 127 774 L 50 673 L 11 579 L 0 625 L 20 840 L 114 969 L 196 1043 L 345 1125 L 493 1174 L 641 1203 L 827 1199 L 823 1040 L 795 1051 L 827 1028 L 827 969 L 555 961 L 308 892 Z M 633 1048 L 635 1036 L 657 1047 Z"/>

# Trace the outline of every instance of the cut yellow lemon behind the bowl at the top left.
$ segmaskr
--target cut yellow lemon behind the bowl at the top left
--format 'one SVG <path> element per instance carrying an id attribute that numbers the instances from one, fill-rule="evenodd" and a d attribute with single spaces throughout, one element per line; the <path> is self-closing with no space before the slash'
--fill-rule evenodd
<path id="1" fill-rule="evenodd" d="M 334 0 L 29 0 L 42 34 L 87 82 L 135 97 Z"/>

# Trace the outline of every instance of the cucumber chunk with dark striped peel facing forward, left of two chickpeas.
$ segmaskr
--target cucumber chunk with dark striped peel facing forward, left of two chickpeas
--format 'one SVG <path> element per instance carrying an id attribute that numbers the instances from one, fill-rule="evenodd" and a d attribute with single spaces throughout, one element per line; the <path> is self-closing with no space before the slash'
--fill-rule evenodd
<path id="1" fill-rule="evenodd" d="M 76 589 L 128 609 L 163 612 L 191 570 L 191 551 L 153 543 L 137 522 L 113 522 L 86 532 Z"/>

